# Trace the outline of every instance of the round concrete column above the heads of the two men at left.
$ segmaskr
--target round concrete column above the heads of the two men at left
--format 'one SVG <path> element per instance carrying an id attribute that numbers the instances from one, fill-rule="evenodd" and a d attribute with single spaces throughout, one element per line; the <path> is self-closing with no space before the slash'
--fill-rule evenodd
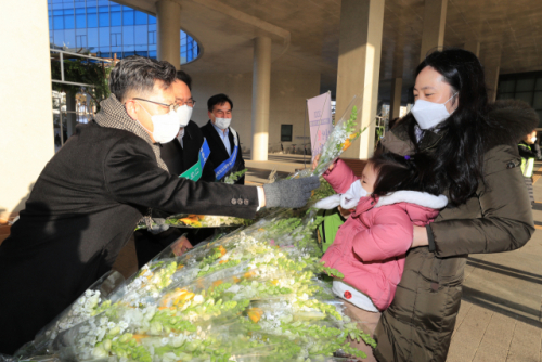
<path id="1" fill-rule="evenodd" d="M 157 57 L 181 68 L 181 7 L 170 0 L 156 1 Z"/>

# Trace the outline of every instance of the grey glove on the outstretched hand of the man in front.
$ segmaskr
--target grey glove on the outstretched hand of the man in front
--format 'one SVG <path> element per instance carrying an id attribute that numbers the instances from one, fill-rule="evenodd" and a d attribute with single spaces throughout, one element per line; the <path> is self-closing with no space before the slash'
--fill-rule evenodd
<path id="1" fill-rule="evenodd" d="M 307 204 L 311 191 L 320 186 L 317 176 L 284 180 L 263 185 L 267 207 L 296 208 Z"/>

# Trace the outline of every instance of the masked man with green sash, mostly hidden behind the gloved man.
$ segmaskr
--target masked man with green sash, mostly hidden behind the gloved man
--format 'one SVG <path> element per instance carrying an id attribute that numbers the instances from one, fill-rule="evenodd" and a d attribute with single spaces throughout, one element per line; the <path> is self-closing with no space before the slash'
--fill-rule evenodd
<path id="1" fill-rule="evenodd" d="M 171 174 L 181 176 L 198 161 L 199 151 L 204 144 L 204 137 L 199 131 L 199 127 L 191 120 L 192 109 L 195 105 L 191 92 L 192 78 L 185 72 L 178 70 L 177 79 L 171 87 L 176 104 L 179 105 L 177 113 L 180 130 L 171 142 L 160 144 L 160 158 Z M 215 181 L 215 168 L 210 160 L 207 159 L 205 163 L 203 173 L 198 180 L 206 182 Z M 160 215 L 159 212 L 155 212 L 154 216 L 168 217 L 168 215 Z M 139 268 L 143 267 L 172 243 L 175 243 L 172 245 L 173 249 L 178 250 L 177 254 L 180 255 L 212 234 L 210 230 L 194 229 L 190 230 L 182 237 L 186 229 L 169 228 L 165 230 L 166 228 L 167 225 L 162 227 L 162 232 L 158 233 L 149 230 L 138 230 L 133 233 Z"/>

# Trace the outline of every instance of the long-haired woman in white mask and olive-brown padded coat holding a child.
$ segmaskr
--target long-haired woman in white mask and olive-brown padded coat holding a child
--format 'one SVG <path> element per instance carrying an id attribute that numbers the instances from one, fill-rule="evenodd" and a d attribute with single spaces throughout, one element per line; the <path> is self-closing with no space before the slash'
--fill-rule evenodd
<path id="1" fill-rule="evenodd" d="M 415 104 L 382 146 L 423 154 L 421 176 L 449 198 L 435 222 L 414 227 L 396 297 L 375 331 L 380 362 L 446 361 L 468 254 L 513 250 L 534 225 L 517 142 L 538 125 L 518 101 L 488 104 L 473 53 L 436 51 L 416 68 Z"/>

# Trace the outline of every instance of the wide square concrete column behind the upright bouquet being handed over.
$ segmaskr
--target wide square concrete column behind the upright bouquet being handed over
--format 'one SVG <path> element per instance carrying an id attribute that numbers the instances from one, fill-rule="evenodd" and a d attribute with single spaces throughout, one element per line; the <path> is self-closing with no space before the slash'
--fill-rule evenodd
<path id="1" fill-rule="evenodd" d="M 374 151 L 378 102 L 384 0 L 343 0 L 340 5 L 339 57 L 337 67 L 337 120 L 358 94 L 363 100 L 358 127 L 369 128 L 346 158 L 367 158 Z"/>

